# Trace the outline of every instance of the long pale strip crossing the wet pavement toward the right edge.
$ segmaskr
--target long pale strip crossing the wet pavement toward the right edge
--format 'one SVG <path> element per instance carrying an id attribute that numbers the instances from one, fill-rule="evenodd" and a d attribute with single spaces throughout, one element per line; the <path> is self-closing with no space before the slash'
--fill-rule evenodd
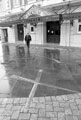
<path id="1" fill-rule="evenodd" d="M 27 79 L 27 78 L 24 78 L 24 77 L 21 77 L 21 76 L 17 76 L 17 75 L 12 75 L 11 78 L 19 79 L 21 81 L 24 80 L 26 82 L 30 82 L 30 83 L 34 83 L 34 84 L 38 84 L 38 85 L 42 85 L 42 86 L 46 86 L 46 87 L 50 87 L 50 88 L 53 88 L 53 89 L 64 90 L 64 91 L 68 91 L 68 92 L 72 92 L 72 93 L 79 93 L 78 91 L 70 90 L 70 89 L 63 88 L 63 87 L 58 87 L 58 86 L 55 86 L 55 85 L 50 85 L 50 84 L 47 84 L 47 83 L 40 83 L 40 82 L 31 80 L 31 79 Z"/>

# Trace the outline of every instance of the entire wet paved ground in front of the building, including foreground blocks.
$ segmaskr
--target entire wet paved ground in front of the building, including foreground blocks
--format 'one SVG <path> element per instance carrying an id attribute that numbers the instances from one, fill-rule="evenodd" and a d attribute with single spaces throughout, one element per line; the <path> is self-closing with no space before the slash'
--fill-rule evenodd
<path id="1" fill-rule="evenodd" d="M 0 51 L 0 120 L 81 119 L 81 49 Z"/>

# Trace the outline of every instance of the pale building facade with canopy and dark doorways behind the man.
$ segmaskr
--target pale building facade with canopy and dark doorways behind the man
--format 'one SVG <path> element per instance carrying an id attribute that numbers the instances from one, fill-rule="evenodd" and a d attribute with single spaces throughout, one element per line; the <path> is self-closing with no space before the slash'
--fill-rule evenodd
<path id="1" fill-rule="evenodd" d="M 81 47 L 80 2 L 80 0 L 60 3 L 58 1 L 54 3 L 54 0 L 6 0 L 6 11 L 4 14 L 0 13 L 1 40 L 24 43 L 25 35 L 29 32 L 32 36 L 31 44 Z"/>

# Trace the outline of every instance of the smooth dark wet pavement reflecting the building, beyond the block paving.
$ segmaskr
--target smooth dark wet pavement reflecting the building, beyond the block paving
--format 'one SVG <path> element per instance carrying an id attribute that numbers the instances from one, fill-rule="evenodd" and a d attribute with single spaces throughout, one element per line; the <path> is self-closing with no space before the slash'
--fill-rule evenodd
<path id="1" fill-rule="evenodd" d="M 81 92 L 81 49 L 0 46 L 0 97 L 28 97 L 39 70 L 35 96 Z M 16 75 L 31 81 L 17 80 Z"/>

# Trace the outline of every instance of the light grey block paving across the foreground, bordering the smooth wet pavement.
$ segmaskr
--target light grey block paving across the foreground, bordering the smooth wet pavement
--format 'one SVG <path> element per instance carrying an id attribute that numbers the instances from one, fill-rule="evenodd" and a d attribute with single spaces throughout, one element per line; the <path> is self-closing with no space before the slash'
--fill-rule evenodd
<path id="1" fill-rule="evenodd" d="M 0 99 L 0 120 L 81 120 L 80 97 L 74 94 L 33 98 L 28 111 L 27 98 Z"/>

